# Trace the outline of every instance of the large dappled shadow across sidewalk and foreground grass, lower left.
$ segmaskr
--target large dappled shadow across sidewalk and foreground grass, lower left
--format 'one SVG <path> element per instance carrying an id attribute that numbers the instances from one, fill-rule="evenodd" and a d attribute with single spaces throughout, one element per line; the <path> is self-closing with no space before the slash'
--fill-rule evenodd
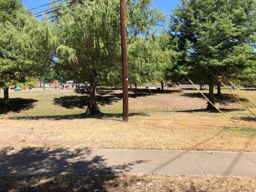
<path id="1" fill-rule="evenodd" d="M 114 151 L 23 149 L 0 152 L 0 162 L 0 191 L 107 192 L 121 184 L 112 182 L 117 174 L 148 161 L 126 163 L 125 154 Z M 18 175 L 33 176 L 13 177 Z"/>

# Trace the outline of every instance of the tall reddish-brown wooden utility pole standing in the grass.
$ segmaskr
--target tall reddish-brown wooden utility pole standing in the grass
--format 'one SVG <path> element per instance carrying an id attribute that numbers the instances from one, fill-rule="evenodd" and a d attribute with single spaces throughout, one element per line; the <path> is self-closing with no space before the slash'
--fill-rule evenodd
<path id="1" fill-rule="evenodd" d="M 128 72 L 127 72 L 127 42 L 126 42 L 126 15 L 125 0 L 120 0 L 121 18 L 121 46 L 122 46 L 122 120 L 128 121 Z"/>

